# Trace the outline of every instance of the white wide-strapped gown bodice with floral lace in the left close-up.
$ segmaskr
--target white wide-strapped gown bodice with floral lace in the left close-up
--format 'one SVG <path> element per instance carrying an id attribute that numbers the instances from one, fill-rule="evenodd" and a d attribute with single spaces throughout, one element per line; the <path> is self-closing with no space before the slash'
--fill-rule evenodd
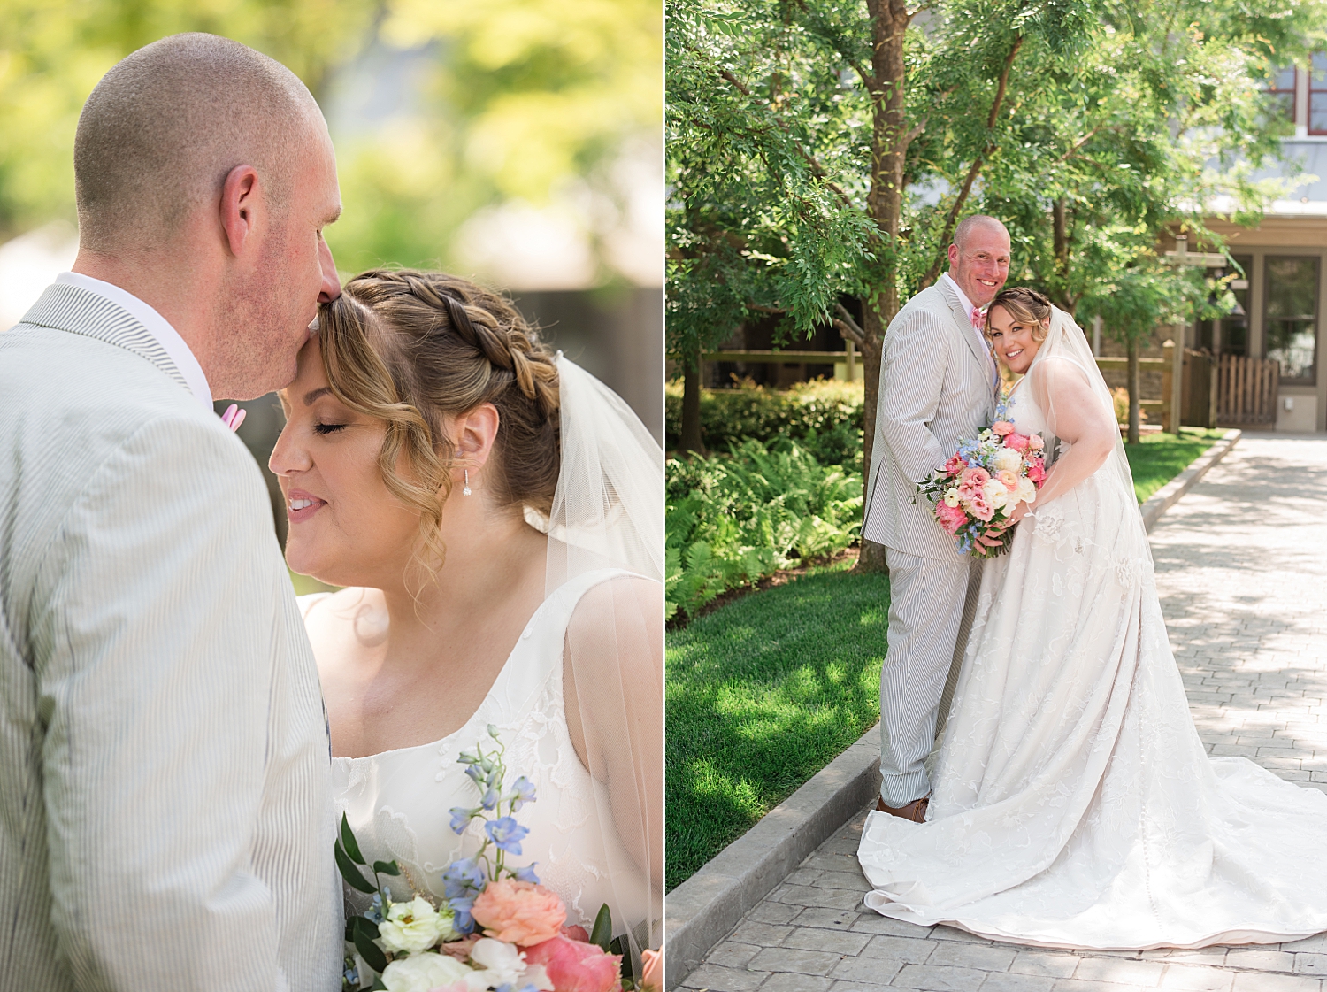
<path id="1" fill-rule="evenodd" d="M 337 813 L 346 814 L 360 849 L 370 862 L 394 858 L 406 872 L 393 880 L 393 896 L 406 898 L 413 887 L 441 900 L 442 870 L 478 850 L 480 821 L 458 837 L 449 810 L 478 805 L 479 793 L 456 756 L 472 750 L 476 741 L 491 744 L 486 728 L 494 724 L 507 748 L 510 780 L 525 776 L 536 790 L 536 801 L 516 814 L 529 834 L 512 863 L 536 863 L 540 882 L 567 904 L 569 924 L 589 930 L 604 903 L 620 931 L 645 919 L 644 875 L 616 834 L 605 835 L 601 827 L 596 795 L 606 809 L 604 786 L 576 756 L 563 703 L 563 644 L 572 612 L 593 586 L 624 575 L 616 568 L 589 572 L 549 595 L 525 624 L 483 703 L 455 733 L 382 754 L 332 760 Z M 301 598 L 309 606 L 314 600 Z M 354 904 L 358 894 L 348 896 Z"/>

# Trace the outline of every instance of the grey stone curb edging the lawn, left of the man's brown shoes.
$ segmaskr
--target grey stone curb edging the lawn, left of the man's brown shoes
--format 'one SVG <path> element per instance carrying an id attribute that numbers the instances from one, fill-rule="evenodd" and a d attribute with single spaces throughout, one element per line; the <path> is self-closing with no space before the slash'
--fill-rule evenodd
<path id="1" fill-rule="evenodd" d="M 807 855 L 880 794 L 880 724 L 665 896 L 671 992 Z"/>

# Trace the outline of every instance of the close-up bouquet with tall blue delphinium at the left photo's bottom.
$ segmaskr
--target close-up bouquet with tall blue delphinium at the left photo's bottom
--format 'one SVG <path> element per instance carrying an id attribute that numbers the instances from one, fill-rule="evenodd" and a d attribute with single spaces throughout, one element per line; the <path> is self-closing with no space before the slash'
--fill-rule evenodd
<path id="1" fill-rule="evenodd" d="M 645 952 L 645 976 L 638 985 L 621 976 L 624 948 L 613 940 L 605 904 L 593 932 L 567 927 L 567 907 L 539 884 L 533 866 L 512 867 L 507 855 L 520 854 L 528 833 L 515 813 L 535 801 L 535 789 L 522 776 L 504 786 L 507 766 L 498 728 L 488 734 L 496 746 L 462 752 L 458 761 L 475 782 L 479 805 L 451 810 L 451 829 L 460 834 L 471 821 L 483 821 L 484 841 L 472 858 L 453 862 L 442 872 L 446 898 L 435 904 L 423 895 L 393 902 L 380 875 L 401 874 L 394 862 L 369 867 L 345 815 L 336 842 L 336 862 L 346 884 L 373 902 L 346 920 L 342 989 L 386 992 L 622 992 L 658 988 L 657 952 Z M 365 868 L 373 874 L 370 882 Z M 629 959 L 628 959 L 629 960 Z"/>

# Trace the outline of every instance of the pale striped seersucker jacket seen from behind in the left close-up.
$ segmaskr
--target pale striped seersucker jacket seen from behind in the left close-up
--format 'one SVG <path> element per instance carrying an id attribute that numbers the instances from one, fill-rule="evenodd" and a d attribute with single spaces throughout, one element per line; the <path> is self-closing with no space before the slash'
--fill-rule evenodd
<path id="1" fill-rule="evenodd" d="M 340 989 L 330 789 L 257 466 L 49 287 L 0 333 L 0 989 Z"/>

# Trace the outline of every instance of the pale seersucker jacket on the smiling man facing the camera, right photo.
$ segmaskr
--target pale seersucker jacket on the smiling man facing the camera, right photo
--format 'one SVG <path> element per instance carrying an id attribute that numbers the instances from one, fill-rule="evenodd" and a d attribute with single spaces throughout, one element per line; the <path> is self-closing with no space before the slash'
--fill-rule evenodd
<path id="1" fill-rule="evenodd" d="M 889 321 L 861 527 L 867 540 L 920 558 L 963 560 L 930 502 L 917 495 L 917 483 L 994 413 L 990 369 L 958 293 L 945 282 L 922 289 Z"/>

